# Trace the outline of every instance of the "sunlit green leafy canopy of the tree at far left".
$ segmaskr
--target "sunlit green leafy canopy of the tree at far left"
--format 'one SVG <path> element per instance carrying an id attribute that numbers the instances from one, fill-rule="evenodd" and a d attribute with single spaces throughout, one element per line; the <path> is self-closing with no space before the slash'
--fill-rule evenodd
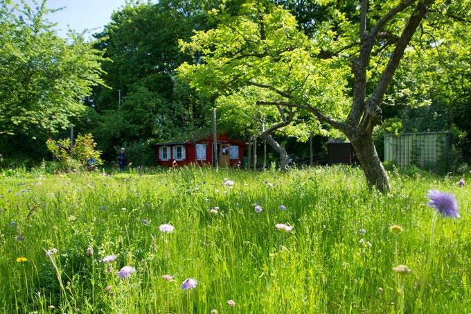
<path id="1" fill-rule="evenodd" d="M 46 1 L 36 9 L 0 4 L 0 134 L 64 128 L 103 84 L 102 53 L 81 35 L 58 37 L 48 12 Z"/>

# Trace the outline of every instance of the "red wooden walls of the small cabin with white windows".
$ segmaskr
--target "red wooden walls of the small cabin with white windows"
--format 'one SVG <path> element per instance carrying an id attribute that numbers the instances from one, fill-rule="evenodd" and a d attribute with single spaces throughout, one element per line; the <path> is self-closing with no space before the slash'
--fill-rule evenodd
<path id="1" fill-rule="evenodd" d="M 217 162 L 219 166 L 242 166 L 246 143 L 231 139 L 226 134 L 217 136 Z M 154 144 L 159 166 L 183 166 L 186 164 L 212 165 L 213 137 L 197 141 L 166 141 Z"/>

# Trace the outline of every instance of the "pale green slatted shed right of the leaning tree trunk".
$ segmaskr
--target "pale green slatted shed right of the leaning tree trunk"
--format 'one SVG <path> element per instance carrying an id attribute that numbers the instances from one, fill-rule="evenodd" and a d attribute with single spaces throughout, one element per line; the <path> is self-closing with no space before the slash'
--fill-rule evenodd
<path id="1" fill-rule="evenodd" d="M 446 168 L 450 149 L 450 132 L 384 134 L 384 161 L 400 167 Z"/>

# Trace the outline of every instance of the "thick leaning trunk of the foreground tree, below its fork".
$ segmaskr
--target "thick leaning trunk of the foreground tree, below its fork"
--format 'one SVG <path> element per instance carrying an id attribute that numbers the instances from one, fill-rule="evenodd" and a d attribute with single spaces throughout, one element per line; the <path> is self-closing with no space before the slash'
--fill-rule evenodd
<path id="1" fill-rule="evenodd" d="M 390 190 L 388 174 L 384 170 L 380 157 L 377 155 L 371 135 L 350 138 L 358 162 L 366 176 L 369 186 L 374 186 L 381 193 Z"/>

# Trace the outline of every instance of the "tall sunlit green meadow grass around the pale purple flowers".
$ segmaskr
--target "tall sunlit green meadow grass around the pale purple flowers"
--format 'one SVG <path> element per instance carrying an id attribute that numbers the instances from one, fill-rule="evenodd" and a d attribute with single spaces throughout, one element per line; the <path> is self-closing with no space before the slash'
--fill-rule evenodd
<path id="1" fill-rule="evenodd" d="M 361 170 L 346 166 L 3 171 L 0 308 L 471 313 L 471 193 L 458 180 L 391 173 L 392 191 L 381 195 L 368 189 Z M 429 189 L 454 194 L 461 218 L 436 216 L 432 228 Z M 279 223 L 292 232 L 278 230 Z M 161 232 L 163 224 L 175 230 Z M 116 260 L 103 261 L 110 255 Z M 394 272 L 401 264 L 411 272 Z M 135 272 L 123 279 L 118 271 L 127 265 Z M 197 285 L 184 290 L 188 278 Z"/>

